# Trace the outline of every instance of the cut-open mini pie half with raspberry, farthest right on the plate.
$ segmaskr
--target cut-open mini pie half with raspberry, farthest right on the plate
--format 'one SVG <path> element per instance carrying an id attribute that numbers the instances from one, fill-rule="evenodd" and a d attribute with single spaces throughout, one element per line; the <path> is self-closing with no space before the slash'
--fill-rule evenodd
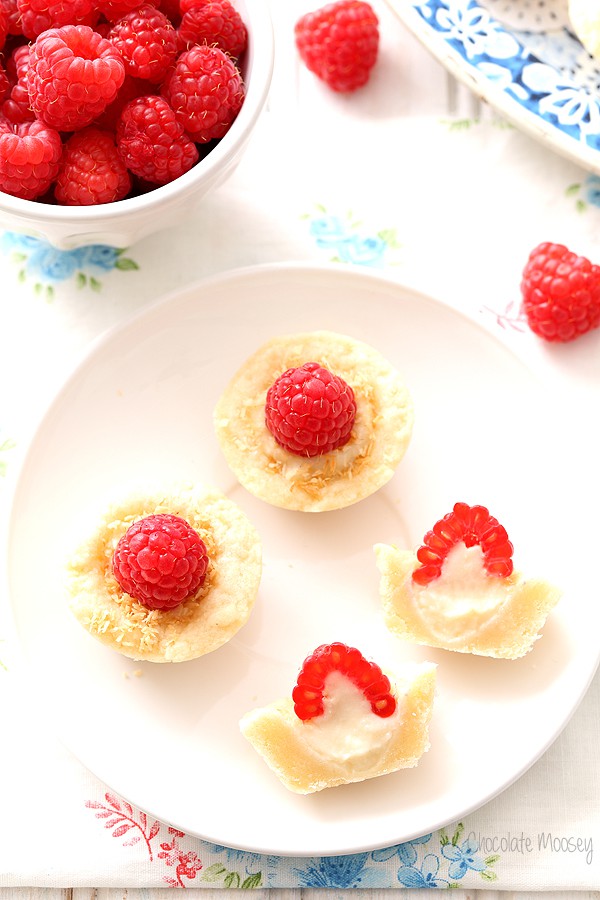
<path id="1" fill-rule="evenodd" d="M 524 656 L 560 592 L 514 571 L 512 552 L 497 519 L 485 507 L 465 503 L 436 522 L 416 553 L 376 544 L 385 624 L 429 647 L 501 659 Z"/>

